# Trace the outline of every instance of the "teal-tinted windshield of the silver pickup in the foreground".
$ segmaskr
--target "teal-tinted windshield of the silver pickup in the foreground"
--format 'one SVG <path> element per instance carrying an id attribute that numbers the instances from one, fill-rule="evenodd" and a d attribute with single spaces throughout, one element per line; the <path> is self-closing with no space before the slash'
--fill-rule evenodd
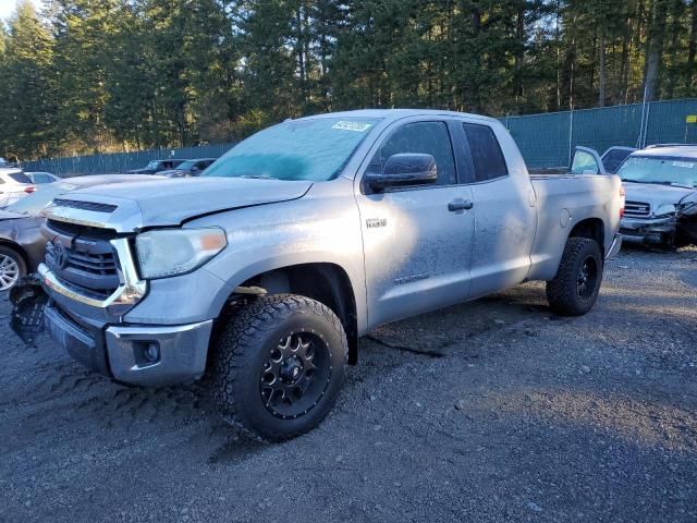
<path id="1" fill-rule="evenodd" d="M 204 177 L 269 178 L 321 182 L 337 178 L 375 119 L 289 121 L 237 144 Z"/>

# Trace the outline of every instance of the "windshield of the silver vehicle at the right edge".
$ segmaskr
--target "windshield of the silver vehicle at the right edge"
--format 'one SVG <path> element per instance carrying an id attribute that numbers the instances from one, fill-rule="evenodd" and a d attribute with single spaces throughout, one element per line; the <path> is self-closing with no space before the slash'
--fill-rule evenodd
<path id="1" fill-rule="evenodd" d="M 625 182 L 697 187 L 697 159 L 631 156 L 622 163 L 617 174 Z"/>

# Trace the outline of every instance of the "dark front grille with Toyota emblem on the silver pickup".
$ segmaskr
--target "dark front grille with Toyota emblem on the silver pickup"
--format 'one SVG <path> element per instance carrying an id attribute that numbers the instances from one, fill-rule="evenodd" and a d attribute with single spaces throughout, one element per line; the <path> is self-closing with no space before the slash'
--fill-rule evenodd
<path id="1" fill-rule="evenodd" d="M 103 231 L 83 228 L 70 235 L 47 227 L 46 265 L 64 283 L 93 297 L 107 297 L 120 284 L 118 256 Z"/>

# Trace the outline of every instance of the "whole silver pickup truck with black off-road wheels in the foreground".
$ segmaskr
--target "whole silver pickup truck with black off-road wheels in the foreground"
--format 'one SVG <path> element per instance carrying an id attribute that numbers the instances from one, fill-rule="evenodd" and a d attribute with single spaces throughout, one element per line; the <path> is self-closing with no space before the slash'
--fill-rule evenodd
<path id="1" fill-rule="evenodd" d="M 526 280 L 554 312 L 588 312 L 623 205 L 614 175 L 530 178 L 489 118 L 291 120 L 199 178 L 53 200 L 46 325 L 120 382 L 208 370 L 225 419 L 288 439 L 327 415 L 377 326 Z"/>

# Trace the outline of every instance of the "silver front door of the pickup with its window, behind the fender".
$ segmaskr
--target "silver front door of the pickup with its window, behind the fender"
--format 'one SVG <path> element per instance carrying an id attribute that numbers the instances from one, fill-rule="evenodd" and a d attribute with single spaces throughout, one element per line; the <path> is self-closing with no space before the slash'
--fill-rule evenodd
<path id="1" fill-rule="evenodd" d="M 371 193 L 357 185 L 369 324 L 375 327 L 465 300 L 474 232 L 472 190 L 457 180 L 453 121 L 409 119 L 374 148 L 366 172 L 396 154 L 428 154 L 438 182 Z"/>

